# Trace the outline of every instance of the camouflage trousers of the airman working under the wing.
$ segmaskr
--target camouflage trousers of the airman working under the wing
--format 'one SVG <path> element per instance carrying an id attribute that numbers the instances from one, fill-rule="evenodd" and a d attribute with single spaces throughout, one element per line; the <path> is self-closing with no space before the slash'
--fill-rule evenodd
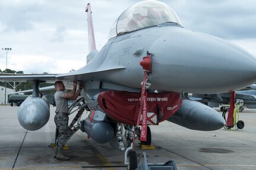
<path id="1" fill-rule="evenodd" d="M 56 113 L 54 121 L 58 129 L 56 146 L 58 148 L 62 148 L 64 147 L 65 143 L 67 143 L 67 141 L 70 139 L 70 135 L 72 134 L 72 130 L 68 127 L 68 116 L 65 114 Z"/>

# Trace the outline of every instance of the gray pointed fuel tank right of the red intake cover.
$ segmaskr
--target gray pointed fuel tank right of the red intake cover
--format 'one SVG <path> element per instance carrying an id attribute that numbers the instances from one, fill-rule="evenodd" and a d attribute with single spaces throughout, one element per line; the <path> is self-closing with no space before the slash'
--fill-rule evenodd
<path id="1" fill-rule="evenodd" d="M 181 107 L 168 121 L 192 130 L 211 131 L 226 125 L 225 119 L 201 102 L 183 100 Z"/>

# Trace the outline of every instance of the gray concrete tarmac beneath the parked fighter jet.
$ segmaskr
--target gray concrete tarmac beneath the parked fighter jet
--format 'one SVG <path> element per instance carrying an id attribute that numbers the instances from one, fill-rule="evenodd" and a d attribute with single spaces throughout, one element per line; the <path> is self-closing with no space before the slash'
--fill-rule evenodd
<path id="1" fill-rule="evenodd" d="M 5 169 L 127 169 L 124 152 L 109 143 L 99 144 L 77 131 L 68 141 L 64 155 L 69 161 L 53 158 L 48 147 L 55 140 L 55 107 L 50 120 L 37 131 L 27 131 L 17 119 L 18 107 L 0 105 L 0 170 Z M 154 150 L 142 150 L 135 142 L 137 156 L 146 152 L 148 163 L 176 162 L 184 169 L 256 169 L 256 110 L 245 109 L 239 115 L 245 122 L 242 130 L 195 131 L 164 121 L 150 126 Z M 72 120 L 71 118 L 69 120 Z"/>

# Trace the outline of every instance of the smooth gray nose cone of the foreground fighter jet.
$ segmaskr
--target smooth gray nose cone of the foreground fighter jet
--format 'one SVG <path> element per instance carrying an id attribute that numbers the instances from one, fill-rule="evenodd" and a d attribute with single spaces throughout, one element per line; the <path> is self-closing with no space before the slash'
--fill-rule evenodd
<path id="1" fill-rule="evenodd" d="M 151 79 L 156 84 L 160 81 L 162 88 L 211 94 L 256 82 L 256 58 L 241 47 L 184 28 L 161 29 L 165 36 L 155 41 L 150 53 L 154 74 Z"/>

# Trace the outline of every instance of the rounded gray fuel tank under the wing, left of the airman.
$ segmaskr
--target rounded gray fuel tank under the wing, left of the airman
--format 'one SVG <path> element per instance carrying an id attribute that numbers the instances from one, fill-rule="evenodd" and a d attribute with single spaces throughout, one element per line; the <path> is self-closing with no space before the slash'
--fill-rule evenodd
<path id="1" fill-rule="evenodd" d="M 24 129 L 38 130 L 49 120 L 49 102 L 46 98 L 29 96 L 18 108 L 17 116 Z"/>

